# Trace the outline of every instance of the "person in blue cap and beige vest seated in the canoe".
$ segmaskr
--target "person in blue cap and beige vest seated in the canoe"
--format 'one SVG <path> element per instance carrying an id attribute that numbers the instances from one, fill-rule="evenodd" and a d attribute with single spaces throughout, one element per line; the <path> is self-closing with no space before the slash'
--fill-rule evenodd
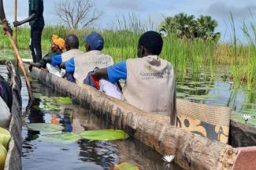
<path id="1" fill-rule="evenodd" d="M 88 84 L 84 83 L 84 80 L 85 78 L 87 79 L 87 75 L 91 71 L 94 71 L 95 68 L 113 65 L 112 57 L 102 53 L 104 39 L 101 34 L 93 32 L 87 36 L 83 36 L 83 40 L 86 44 L 86 52 L 61 63 L 61 68 L 65 69 L 66 73 L 73 74 L 73 79 L 69 81 L 76 82 L 77 84 Z M 119 87 L 105 79 L 98 81 L 98 89 L 101 89 L 102 92 L 105 92 L 109 96 L 116 97 L 117 99 L 121 98 Z"/>

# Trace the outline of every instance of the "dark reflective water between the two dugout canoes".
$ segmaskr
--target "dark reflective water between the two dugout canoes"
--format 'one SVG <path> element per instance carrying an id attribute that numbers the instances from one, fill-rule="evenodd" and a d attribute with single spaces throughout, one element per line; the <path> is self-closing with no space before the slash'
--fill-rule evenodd
<path id="1" fill-rule="evenodd" d="M 29 130 L 25 126 L 29 123 L 59 124 L 65 127 L 65 132 L 76 133 L 86 130 L 113 128 L 108 122 L 99 118 L 96 114 L 92 114 L 90 110 L 74 103 L 51 103 L 54 104 L 54 107 L 59 107 L 54 111 L 39 109 L 44 107 L 46 101 L 57 99 L 56 97 L 60 94 L 35 81 L 32 86 L 37 99 L 34 100 L 32 109 L 27 112 L 24 118 L 22 129 L 24 139 L 22 167 L 24 170 L 107 170 L 113 165 L 123 162 L 137 165 L 141 170 L 167 169 L 164 161 L 161 160 L 160 154 L 132 137 L 113 142 L 80 139 L 76 143 L 63 144 L 46 140 L 44 135 L 47 132 Z M 26 107 L 28 95 L 24 88 L 22 89 L 22 96 L 23 105 Z M 180 170 L 181 168 L 172 164 L 169 169 Z"/>

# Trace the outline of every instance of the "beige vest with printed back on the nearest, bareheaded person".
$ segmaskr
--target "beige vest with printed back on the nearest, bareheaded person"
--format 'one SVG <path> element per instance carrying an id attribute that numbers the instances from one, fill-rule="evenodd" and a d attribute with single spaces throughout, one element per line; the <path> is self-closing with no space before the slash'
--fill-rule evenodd
<path id="1" fill-rule="evenodd" d="M 176 125 L 176 77 L 173 67 L 158 56 L 126 60 L 124 99 L 141 110 L 171 116 Z"/>

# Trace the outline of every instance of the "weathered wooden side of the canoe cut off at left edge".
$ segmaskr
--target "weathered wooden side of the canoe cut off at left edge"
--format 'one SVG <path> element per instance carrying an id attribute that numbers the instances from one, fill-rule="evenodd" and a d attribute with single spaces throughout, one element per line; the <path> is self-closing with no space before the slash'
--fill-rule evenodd
<path id="1" fill-rule="evenodd" d="M 1 61 L 1 63 L 4 63 Z M 4 170 L 21 170 L 21 154 L 22 154 L 22 138 L 21 138 L 21 81 L 12 63 L 2 65 L 2 76 L 6 78 L 12 88 L 13 103 L 11 108 L 11 121 L 9 124 L 9 132 L 11 139 L 9 141 L 9 150 L 6 157 Z"/>

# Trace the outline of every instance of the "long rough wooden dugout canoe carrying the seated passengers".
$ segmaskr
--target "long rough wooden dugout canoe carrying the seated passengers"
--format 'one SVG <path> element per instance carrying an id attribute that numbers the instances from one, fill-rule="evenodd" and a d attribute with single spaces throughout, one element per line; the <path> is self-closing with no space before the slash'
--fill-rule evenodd
<path id="1" fill-rule="evenodd" d="M 28 70 L 28 64 L 26 65 Z M 253 170 L 256 169 L 256 148 L 254 146 L 236 148 L 234 146 L 210 140 L 185 129 L 170 126 L 169 118 L 146 113 L 121 100 L 106 96 L 87 85 L 76 85 L 58 78 L 54 74 L 33 67 L 28 74 L 43 85 L 70 96 L 76 102 L 90 108 L 95 114 L 111 122 L 115 128 L 124 129 L 158 153 L 175 154 L 176 164 L 184 169 L 195 170 Z M 179 100 L 177 101 L 179 103 Z M 179 111 L 177 110 L 178 114 Z M 255 129 L 231 123 L 232 143 L 249 141 L 256 134 Z M 236 136 L 236 132 L 242 132 Z M 234 137 L 236 136 L 236 137 Z M 247 139 L 241 139 L 243 137 Z M 250 145 L 248 142 L 247 145 Z"/>

